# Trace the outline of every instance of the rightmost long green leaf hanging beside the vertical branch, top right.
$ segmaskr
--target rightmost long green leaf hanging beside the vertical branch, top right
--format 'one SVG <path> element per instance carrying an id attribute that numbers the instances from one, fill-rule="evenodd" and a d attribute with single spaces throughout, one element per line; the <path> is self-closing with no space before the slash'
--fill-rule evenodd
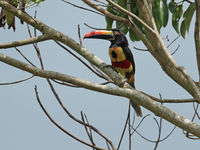
<path id="1" fill-rule="evenodd" d="M 183 21 L 181 23 L 181 28 L 180 28 L 181 35 L 183 38 L 185 38 L 186 31 L 189 32 L 190 23 L 191 23 L 195 8 L 196 8 L 195 3 L 192 3 L 189 5 L 187 10 L 183 14 Z"/>

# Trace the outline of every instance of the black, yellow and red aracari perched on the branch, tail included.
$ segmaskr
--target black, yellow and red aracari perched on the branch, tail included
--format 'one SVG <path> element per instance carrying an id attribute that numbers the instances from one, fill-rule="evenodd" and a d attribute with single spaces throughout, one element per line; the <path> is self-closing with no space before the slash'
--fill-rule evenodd
<path id="1" fill-rule="evenodd" d="M 112 30 L 96 30 L 87 33 L 85 38 L 109 40 L 109 56 L 112 67 L 128 80 L 128 83 L 135 88 L 135 62 L 133 54 L 128 47 L 128 40 L 125 35 L 117 29 Z M 142 117 L 141 107 L 131 101 L 131 105 L 135 109 L 137 116 Z"/>

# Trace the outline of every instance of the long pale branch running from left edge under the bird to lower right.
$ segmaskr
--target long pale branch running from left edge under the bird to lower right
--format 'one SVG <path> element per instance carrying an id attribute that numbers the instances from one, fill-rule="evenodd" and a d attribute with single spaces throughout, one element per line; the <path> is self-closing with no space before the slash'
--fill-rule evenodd
<path id="1" fill-rule="evenodd" d="M 29 72 L 35 76 L 69 82 L 71 84 L 75 84 L 92 91 L 98 91 L 98 92 L 102 92 L 106 94 L 127 97 L 131 100 L 134 99 L 133 100 L 134 102 L 136 102 L 139 105 L 142 105 L 146 109 L 155 113 L 155 115 L 162 117 L 163 119 L 173 123 L 174 125 L 182 128 L 183 130 L 189 133 L 194 134 L 197 137 L 200 137 L 199 125 L 171 111 L 170 109 L 161 105 L 160 103 L 153 101 L 151 98 L 149 98 L 148 96 L 144 95 L 143 93 L 137 90 L 99 85 L 99 84 L 91 83 L 89 81 L 81 80 L 79 78 L 75 78 L 69 75 L 65 75 L 62 73 L 41 70 L 34 66 L 23 63 L 19 60 L 16 60 L 14 58 L 8 57 L 4 54 L 0 54 L 0 61 L 8 65 L 11 65 L 13 67 L 16 67 L 18 69 Z"/>

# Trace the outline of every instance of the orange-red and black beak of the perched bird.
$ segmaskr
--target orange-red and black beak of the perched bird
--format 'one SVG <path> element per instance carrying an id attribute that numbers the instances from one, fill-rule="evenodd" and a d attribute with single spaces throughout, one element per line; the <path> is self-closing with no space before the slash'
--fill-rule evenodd
<path id="1" fill-rule="evenodd" d="M 104 39 L 104 40 L 114 40 L 114 33 L 111 30 L 95 30 L 87 33 L 83 39 L 93 38 L 93 39 Z"/>

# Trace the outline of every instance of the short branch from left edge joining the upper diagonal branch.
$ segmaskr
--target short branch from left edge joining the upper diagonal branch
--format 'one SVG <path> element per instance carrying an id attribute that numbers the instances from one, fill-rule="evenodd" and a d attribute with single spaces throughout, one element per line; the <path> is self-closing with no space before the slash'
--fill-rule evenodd
<path id="1" fill-rule="evenodd" d="M 36 42 L 43 42 L 46 40 L 49 40 L 50 37 L 47 36 L 46 34 L 40 35 L 37 37 L 25 39 L 25 40 L 20 40 L 20 41 L 13 41 L 13 42 L 8 42 L 8 43 L 2 43 L 0 44 L 0 49 L 6 49 L 6 48 L 11 48 L 11 47 L 17 47 L 17 46 L 24 46 Z"/>

